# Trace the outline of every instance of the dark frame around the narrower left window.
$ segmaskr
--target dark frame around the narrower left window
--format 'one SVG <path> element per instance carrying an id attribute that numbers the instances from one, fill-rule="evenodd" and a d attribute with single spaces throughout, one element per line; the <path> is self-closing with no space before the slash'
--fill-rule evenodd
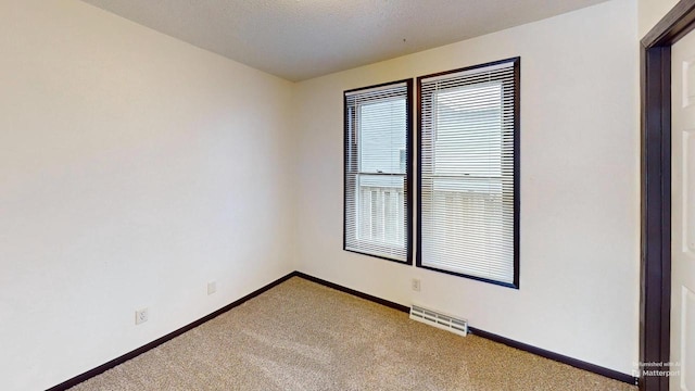
<path id="1" fill-rule="evenodd" d="M 388 256 L 382 256 L 382 255 L 377 255 L 377 254 L 371 254 L 371 253 L 367 253 L 367 252 L 361 252 L 361 251 L 356 251 L 353 249 L 348 249 L 346 243 L 348 243 L 348 229 L 346 229 L 346 225 L 348 225 L 348 174 L 349 174 L 349 164 L 350 164 L 350 146 L 349 146 L 349 140 L 350 140 L 350 135 L 349 133 L 351 131 L 350 125 L 351 125 L 351 116 L 349 113 L 349 108 L 348 108 L 348 93 L 352 93 L 352 92 L 358 92 L 362 90 L 370 90 L 370 89 L 375 89 L 375 88 L 382 88 L 382 87 L 388 87 L 388 86 L 392 86 L 392 85 L 399 85 L 399 84 L 405 84 L 406 85 L 406 97 L 405 97 L 405 104 L 406 104 L 406 111 L 405 111 L 405 146 L 406 146 L 406 151 L 405 151 L 405 165 L 406 165 L 406 171 L 405 171 L 405 177 L 404 177 L 404 184 L 403 184 L 403 197 L 404 200 L 406 202 L 406 207 L 405 207 L 405 218 L 406 218 L 406 229 L 405 229 L 405 250 L 406 250 L 406 257 L 405 261 L 401 261 L 401 260 L 396 260 L 396 258 L 392 258 L 392 257 L 388 257 Z M 367 87 L 361 87 L 361 88 L 354 88 L 354 89 L 349 89 L 343 91 L 343 250 L 348 251 L 348 252 L 352 252 L 355 254 L 362 254 L 362 255 L 367 255 L 367 256 L 371 256 L 371 257 L 377 257 L 377 258 L 381 258 L 381 260 L 387 260 L 387 261 L 391 261 L 391 262 L 395 262 L 397 264 L 402 264 L 402 265 L 413 265 L 413 167 L 414 167 L 414 148 L 415 148 L 415 135 L 413 131 L 413 102 L 414 102 L 414 98 L 413 98 L 413 87 L 414 83 L 413 83 L 413 78 L 407 78 L 407 79 L 402 79 L 402 80 L 395 80 L 395 81 L 389 81 L 389 83 L 382 83 L 382 84 L 378 84 L 378 85 L 372 85 L 372 86 L 367 86 Z M 384 247 L 388 248 L 388 247 Z"/>

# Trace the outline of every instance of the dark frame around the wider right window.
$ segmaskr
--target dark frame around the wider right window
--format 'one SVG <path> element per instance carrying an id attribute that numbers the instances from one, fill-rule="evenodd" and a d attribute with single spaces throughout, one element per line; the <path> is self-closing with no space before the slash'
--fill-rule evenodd
<path id="1" fill-rule="evenodd" d="M 422 265 L 422 251 L 421 251 L 422 249 L 422 191 L 421 191 L 421 188 L 422 188 L 422 79 L 437 77 L 437 76 L 444 76 L 444 75 L 465 72 L 465 71 L 472 71 L 472 70 L 478 70 L 478 68 L 483 68 L 483 67 L 500 65 L 505 63 L 513 63 L 513 66 L 514 66 L 514 97 L 515 97 L 514 141 L 513 141 L 514 142 L 514 190 L 513 190 L 514 192 L 514 281 L 511 283 Z M 521 178 L 521 172 L 520 172 L 521 154 L 520 154 L 520 148 L 519 148 L 520 139 L 521 139 L 520 137 L 521 88 L 520 87 L 521 87 L 521 58 L 520 56 L 500 60 L 500 61 L 493 61 L 484 64 L 478 64 L 478 65 L 472 65 L 472 66 L 467 66 L 463 68 L 440 72 L 440 73 L 417 77 L 417 117 L 418 117 L 418 124 L 417 124 L 417 134 L 418 134 L 417 136 L 418 137 L 417 189 L 418 190 L 417 190 L 417 238 L 416 238 L 417 240 L 416 266 L 417 267 L 428 269 L 428 270 L 444 273 L 453 276 L 469 278 L 477 281 L 489 282 L 489 283 L 493 283 L 502 287 L 519 289 L 519 268 L 520 268 L 520 263 L 519 263 L 520 193 L 519 193 L 519 189 L 520 189 L 520 178 Z"/>

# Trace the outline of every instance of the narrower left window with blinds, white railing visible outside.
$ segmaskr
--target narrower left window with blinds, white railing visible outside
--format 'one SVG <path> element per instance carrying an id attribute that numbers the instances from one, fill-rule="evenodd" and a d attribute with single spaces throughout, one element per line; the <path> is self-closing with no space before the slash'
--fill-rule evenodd
<path id="1" fill-rule="evenodd" d="M 410 264 L 413 80 L 345 91 L 343 248 Z"/>

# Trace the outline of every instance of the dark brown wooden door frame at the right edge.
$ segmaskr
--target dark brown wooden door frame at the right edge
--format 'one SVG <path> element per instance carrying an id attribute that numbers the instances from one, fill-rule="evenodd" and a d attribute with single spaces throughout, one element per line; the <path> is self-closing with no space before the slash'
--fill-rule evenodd
<path id="1" fill-rule="evenodd" d="M 693 28 L 695 0 L 681 0 L 641 41 L 641 363 L 668 363 L 670 357 L 671 46 Z M 640 390 L 668 389 L 668 377 L 640 373 Z"/>

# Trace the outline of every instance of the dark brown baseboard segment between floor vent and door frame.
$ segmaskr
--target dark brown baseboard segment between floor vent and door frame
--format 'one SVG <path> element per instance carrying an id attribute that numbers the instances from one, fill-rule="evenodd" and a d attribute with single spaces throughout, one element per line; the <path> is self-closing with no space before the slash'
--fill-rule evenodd
<path id="1" fill-rule="evenodd" d="M 573 366 L 574 368 L 579 368 L 579 369 L 583 369 L 590 373 L 594 373 L 601 376 L 605 376 L 607 378 L 614 379 L 614 380 L 618 380 L 618 381 L 622 381 L 622 382 L 627 382 L 628 384 L 637 384 L 639 382 L 639 378 L 634 377 L 634 376 L 630 376 L 628 374 L 623 374 L 614 369 L 608 369 L 606 367 L 602 367 L 595 364 L 591 364 L 591 363 L 586 363 L 583 362 L 581 360 L 577 360 L 577 358 L 572 358 L 559 353 L 555 353 L 555 352 L 551 352 L 551 351 L 546 351 L 545 349 L 541 349 L 541 348 L 535 348 L 533 345 L 530 344 L 526 344 L 522 342 L 518 342 L 502 336 L 497 336 L 495 333 L 492 332 L 488 332 L 475 327 L 468 327 L 468 332 L 472 333 L 473 336 L 478 336 L 478 337 L 482 337 L 485 339 L 489 339 L 491 341 L 495 341 L 502 344 L 505 344 L 507 346 L 510 348 L 515 348 L 518 350 L 522 350 L 525 352 L 529 352 L 535 355 L 540 355 L 541 357 L 545 357 L 545 358 L 549 358 L 553 361 L 556 361 L 558 363 L 563 363 L 563 364 L 567 364 L 569 366 Z"/>

